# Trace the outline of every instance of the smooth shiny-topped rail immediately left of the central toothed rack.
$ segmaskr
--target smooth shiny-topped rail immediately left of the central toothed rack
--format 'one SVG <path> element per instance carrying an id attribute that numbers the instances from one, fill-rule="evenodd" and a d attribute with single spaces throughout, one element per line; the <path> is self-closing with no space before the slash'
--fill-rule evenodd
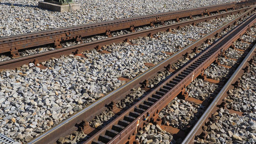
<path id="1" fill-rule="evenodd" d="M 232 19 L 231 21 L 221 26 L 220 28 L 216 29 L 215 31 L 205 35 L 204 37 L 195 41 L 194 43 L 189 44 L 183 50 L 179 51 L 173 56 L 170 56 L 169 58 L 157 64 L 156 66 L 146 70 L 145 73 L 137 76 L 133 80 L 125 83 L 121 87 L 108 93 L 103 98 L 96 101 L 95 103 L 89 105 L 88 107 L 82 109 L 81 111 L 65 119 L 58 125 L 49 129 L 45 133 L 42 133 L 41 135 L 32 139 L 31 141 L 29 141 L 29 143 L 54 143 L 58 138 L 72 133 L 73 131 L 77 130 L 77 127 L 75 127 L 76 124 L 81 123 L 82 120 L 86 122 L 91 121 L 91 119 L 94 118 L 94 116 L 98 115 L 100 112 L 107 109 L 105 107 L 106 104 L 111 103 L 111 101 L 118 102 L 119 100 L 124 98 L 125 95 L 128 94 L 133 87 L 140 85 L 140 82 L 143 82 L 144 80 L 150 78 L 151 76 L 156 74 L 158 71 L 163 70 L 164 67 L 167 66 L 168 64 L 175 63 L 178 59 L 182 58 L 184 54 L 192 52 L 193 49 L 195 49 L 195 47 L 201 45 L 201 43 L 204 43 L 206 39 L 210 39 L 211 37 L 214 37 L 216 34 L 222 32 L 228 26 L 233 25 L 234 22 L 238 21 L 241 17 L 247 15 L 252 11 L 254 11 L 254 7 L 247 10 L 245 13 L 243 13 L 239 17 Z"/>

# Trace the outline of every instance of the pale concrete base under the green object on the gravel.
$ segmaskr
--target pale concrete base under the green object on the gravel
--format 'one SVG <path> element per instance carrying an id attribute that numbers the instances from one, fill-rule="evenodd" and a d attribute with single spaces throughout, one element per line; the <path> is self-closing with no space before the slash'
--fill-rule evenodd
<path id="1" fill-rule="evenodd" d="M 80 9 L 80 4 L 70 4 L 72 11 L 79 10 Z M 39 2 L 38 7 L 42 9 L 47 9 L 50 11 L 56 11 L 56 12 L 68 12 L 70 10 L 69 5 L 57 5 L 57 4 L 52 4 L 52 3 L 47 3 L 47 2 Z"/>

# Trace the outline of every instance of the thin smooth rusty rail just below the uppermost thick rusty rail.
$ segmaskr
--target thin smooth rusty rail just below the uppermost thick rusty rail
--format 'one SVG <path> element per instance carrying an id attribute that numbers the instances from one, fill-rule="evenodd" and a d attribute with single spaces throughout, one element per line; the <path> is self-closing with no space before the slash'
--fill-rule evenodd
<path id="1" fill-rule="evenodd" d="M 190 25 L 193 23 L 198 23 L 201 21 L 226 16 L 226 15 L 233 14 L 233 13 L 245 12 L 246 10 L 249 10 L 251 12 L 252 10 L 254 10 L 254 7 L 253 8 L 252 7 L 243 8 L 243 9 L 234 10 L 234 11 L 221 13 L 221 14 L 217 14 L 217 15 L 212 15 L 212 16 L 187 20 L 187 21 L 183 21 L 183 22 L 178 22 L 178 23 L 174 23 L 172 25 L 165 25 L 165 26 L 161 26 L 161 27 L 157 27 L 157 28 L 153 28 L 153 29 L 124 34 L 124 35 L 101 39 L 101 40 L 96 40 L 96 41 L 92 41 L 92 42 L 88 42 L 88 43 L 82 43 L 82 44 L 77 44 L 74 46 L 64 47 L 62 49 L 57 49 L 57 50 L 52 50 L 52 51 L 43 52 L 43 53 L 39 53 L 39 54 L 34 54 L 34 55 L 26 56 L 26 57 L 20 57 L 20 58 L 7 60 L 7 61 L 2 61 L 2 62 L 0 62 L 0 69 L 13 69 L 18 66 L 22 66 L 23 64 L 28 64 L 28 63 L 32 63 L 32 62 L 37 62 L 37 63 L 44 62 L 46 60 L 51 59 L 52 57 L 58 58 L 61 55 L 77 54 L 78 52 L 92 50 L 98 46 L 100 47 L 102 45 L 108 45 L 113 42 L 121 42 L 121 41 L 125 41 L 128 39 L 134 39 L 134 38 L 137 38 L 140 36 L 146 36 L 149 34 L 154 34 L 154 33 L 160 32 L 160 31 L 166 31 L 168 29 L 179 28 L 179 27 L 187 26 L 187 25 Z M 248 14 L 248 12 L 246 12 L 246 14 Z M 245 14 L 243 14 L 243 15 L 245 15 Z M 234 20 L 233 22 L 236 22 L 237 20 L 238 19 Z"/>

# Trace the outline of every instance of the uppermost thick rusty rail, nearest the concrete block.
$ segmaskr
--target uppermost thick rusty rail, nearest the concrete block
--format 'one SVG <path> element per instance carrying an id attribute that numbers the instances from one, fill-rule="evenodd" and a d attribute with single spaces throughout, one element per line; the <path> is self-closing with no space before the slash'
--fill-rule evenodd
<path id="1" fill-rule="evenodd" d="M 28 34 L 14 35 L 0 38 L 0 53 L 10 52 L 13 57 L 18 56 L 18 50 L 27 49 L 29 47 L 54 43 L 57 48 L 61 47 L 60 42 L 76 39 L 81 41 L 81 37 L 92 36 L 96 34 L 106 33 L 110 35 L 111 31 L 131 29 L 144 25 L 154 25 L 157 22 L 163 22 L 182 17 L 191 17 L 194 15 L 216 12 L 220 10 L 241 8 L 243 6 L 256 4 L 254 1 L 244 1 L 238 3 L 229 3 L 223 5 L 208 6 L 202 8 L 194 8 L 188 10 L 164 12 L 151 15 L 143 15 L 133 18 L 120 20 L 111 20 L 88 25 L 74 26 L 55 30 L 34 32 Z"/>

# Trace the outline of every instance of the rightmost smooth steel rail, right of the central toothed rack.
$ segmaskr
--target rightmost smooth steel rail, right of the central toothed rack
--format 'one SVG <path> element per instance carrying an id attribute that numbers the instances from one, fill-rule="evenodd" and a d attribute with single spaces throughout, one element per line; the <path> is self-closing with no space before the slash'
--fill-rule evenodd
<path id="1" fill-rule="evenodd" d="M 244 58 L 244 60 L 241 62 L 241 64 L 238 66 L 236 71 L 234 71 L 233 75 L 229 78 L 227 83 L 224 85 L 224 87 L 220 90 L 218 95 L 215 97 L 214 101 L 211 102 L 211 104 L 203 113 L 199 121 L 196 123 L 193 129 L 191 129 L 191 131 L 188 133 L 188 135 L 185 137 L 182 143 L 194 143 L 193 141 L 195 137 L 202 133 L 203 131 L 202 126 L 204 126 L 204 124 L 208 121 L 208 117 L 210 117 L 210 115 L 218 109 L 217 105 L 220 105 L 222 103 L 222 100 L 227 95 L 227 91 L 229 89 L 232 89 L 234 87 L 233 84 L 243 75 L 245 71 L 244 70 L 245 67 L 249 65 L 249 60 L 253 57 L 253 55 L 255 55 L 255 53 L 256 53 L 256 44 L 252 47 L 252 49 Z"/>

